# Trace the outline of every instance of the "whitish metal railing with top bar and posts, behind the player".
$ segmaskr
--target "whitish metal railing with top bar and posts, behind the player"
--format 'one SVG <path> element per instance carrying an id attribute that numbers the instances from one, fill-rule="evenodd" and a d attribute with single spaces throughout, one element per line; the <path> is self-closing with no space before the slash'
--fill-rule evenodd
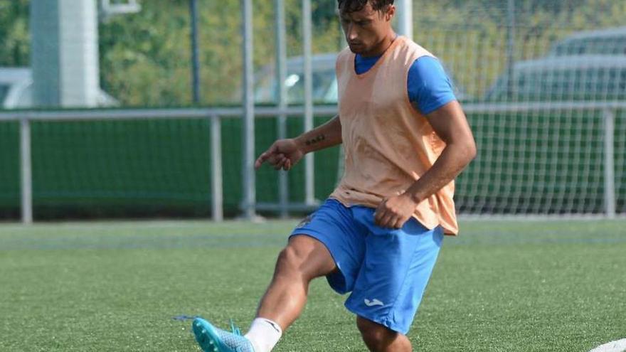
<path id="1" fill-rule="evenodd" d="M 255 118 L 302 117 L 305 107 L 255 107 Z M 604 190 L 605 216 L 615 218 L 615 111 L 626 110 L 626 102 L 536 102 L 502 104 L 467 104 L 463 106 L 467 114 L 534 112 L 554 110 L 589 110 L 603 112 L 604 127 Z M 334 106 L 314 106 L 313 114 L 317 117 L 330 117 L 337 113 Z M 172 108 L 172 109 L 128 109 L 128 110 L 16 110 L 0 112 L 0 122 L 20 122 L 20 159 L 21 159 L 21 220 L 33 222 L 33 191 L 31 166 L 31 122 L 32 121 L 85 121 L 85 120 L 129 120 L 129 119 L 210 119 L 211 120 L 211 208 L 213 220 L 223 219 L 223 183 L 221 153 L 221 119 L 242 118 L 242 107 L 211 108 Z M 246 174 L 247 175 L 247 174 Z M 305 172 L 305 178 L 312 183 L 313 174 Z M 255 184 L 254 174 L 243 180 Z M 282 192 L 286 192 L 283 189 Z M 253 203 L 250 209 L 280 210 L 286 214 L 289 210 L 302 210 L 310 204 L 287 203 L 287 195 L 282 195 L 277 204 Z M 245 205 L 244 205 L 245 206 Z M 306 207 L 305 207 L 306 208 Z"/>

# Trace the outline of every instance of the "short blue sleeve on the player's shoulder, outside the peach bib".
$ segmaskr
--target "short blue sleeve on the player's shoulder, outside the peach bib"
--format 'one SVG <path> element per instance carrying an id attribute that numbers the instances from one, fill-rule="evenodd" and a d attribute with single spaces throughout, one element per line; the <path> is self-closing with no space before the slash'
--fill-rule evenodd
<path id="1" fill-rule="evenodd" d="M 456 100 L 452 82 L 436 58 L 422 56 L 408 70 L 408 97 L 413 106 L 423 114 Z"/>

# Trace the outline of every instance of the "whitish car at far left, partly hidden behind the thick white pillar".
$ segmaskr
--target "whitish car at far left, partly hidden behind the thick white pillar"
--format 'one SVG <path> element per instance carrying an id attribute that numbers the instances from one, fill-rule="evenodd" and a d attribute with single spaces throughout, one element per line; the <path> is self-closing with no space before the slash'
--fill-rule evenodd
<path id="1" fill-rule="evenodd" d="M 100 90 L 98 106 L 114 107 L 117 100 Z M 0 68 L 0 109 L 33 107 L 33 75 L 30 68 Z"/>

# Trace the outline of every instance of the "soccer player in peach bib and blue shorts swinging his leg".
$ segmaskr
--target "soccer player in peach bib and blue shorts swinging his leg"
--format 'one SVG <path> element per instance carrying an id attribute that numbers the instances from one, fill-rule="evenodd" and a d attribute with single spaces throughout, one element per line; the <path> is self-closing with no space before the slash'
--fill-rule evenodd
<path id="1" fill-rule="evenodd" d="M 454 179 L 476 146 L 450 79 L 431 53 L 396 36 L 393 0 L 338 2 L 349 44 L 336 61 L 339 115 L 274 142 L 255 167 L 290 170 L 343 143 L 344 176 L 290 235 L 248 334 L 193 321 L 204 351 L 271 351 L 322 276 L 351 292 L 345 306 L 370 351 L 412 351 L 406 334 L 443 236 L 458 232 Z"/>

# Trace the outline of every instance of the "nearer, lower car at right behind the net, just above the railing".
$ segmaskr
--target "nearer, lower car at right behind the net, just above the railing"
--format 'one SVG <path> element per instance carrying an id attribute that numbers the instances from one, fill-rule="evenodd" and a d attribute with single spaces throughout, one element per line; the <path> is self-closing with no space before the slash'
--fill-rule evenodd
<path id="1" fill-rule="evenodd" d="M 625 100 L 626 60 L 622 55 L 553 56 L 515 63 L 484 100 Z"/>

